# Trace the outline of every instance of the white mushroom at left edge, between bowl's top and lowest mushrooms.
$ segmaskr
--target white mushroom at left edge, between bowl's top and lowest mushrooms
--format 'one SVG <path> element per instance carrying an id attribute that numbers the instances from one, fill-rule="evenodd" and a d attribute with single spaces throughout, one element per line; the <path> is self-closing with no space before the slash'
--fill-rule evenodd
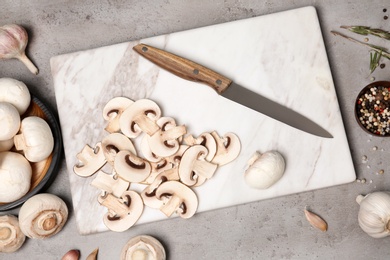
<path id="1" fill-rule="evenodd" d="M 0 102 L 0 141 L 13 138 L 20 127 L 18 110 L 10 103 Z"/>

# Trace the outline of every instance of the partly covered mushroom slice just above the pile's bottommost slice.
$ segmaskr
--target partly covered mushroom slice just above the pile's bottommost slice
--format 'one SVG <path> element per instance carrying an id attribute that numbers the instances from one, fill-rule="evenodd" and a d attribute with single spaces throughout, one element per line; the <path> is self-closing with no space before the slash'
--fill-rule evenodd
<path id="1" fill-rule="evenodd" d="M 98 171 L 91 185 L 107 193 L 112 193 L 116 197 L 120 197 L 129 188 L 130 183 L 122 178 L 118 178 L 116 175 Z"/>

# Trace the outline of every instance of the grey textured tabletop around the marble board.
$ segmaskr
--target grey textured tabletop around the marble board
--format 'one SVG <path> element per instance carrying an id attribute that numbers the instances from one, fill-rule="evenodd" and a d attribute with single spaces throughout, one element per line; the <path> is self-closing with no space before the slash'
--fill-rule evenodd
<path id="1" fill-rule="evenodd" d="M 150 234 L 165 246 L 168 259 L 389 259 L 390 238 L 374 239 L 357 223 L 358 194 L 389 190 L 389 139 L 371 137 L 356 124 L 354 99 L 371 79 L 368 50 L 330 34 L 340 25 L 368 25 L 390 30 L 387 0 L 376 1 L 49 1 L 3 0 L 0 25 L 17 23 L 29 33 L 27 53 L 39 67 L 32 75 L 17 60 L 0 61 L 0 77 L 25 82 L 32 93 L 56 111 L 49 59 L 52 56 L 191 28 L 244 19 L 293 8 L 316 7 L 349 138 L 357 178 L 366 183 L 260 201 L 178 219 L 138 225 L 123 233 L 80 236 L 72 214 L 65 161 L 47 190 L 63 198 L 70 218 L 64 230 L 47 240 L 28 239 L 0 259 L 60 259 L 79 249 L 81 259 L 99 247 L 98 259 L 118 259 L 122 246 L 136 235 Z M 389 11 L 383 12 L 384 8 Z M 377 41 L 383 46 L 390 42 Z M 390 80 L 390 64 L 377 69 L 376 80 Z M 377 147 L 378 149 L 373 149 Z M 362 157 L 367 156 L 368 162 Z M 383 175 L 375 172 L 384 169 Z M 303 209 L 309 205 L 329 224 L 325 233 L 312 228 Z M 19 208 L 1 214 L 18 214 Z"/>

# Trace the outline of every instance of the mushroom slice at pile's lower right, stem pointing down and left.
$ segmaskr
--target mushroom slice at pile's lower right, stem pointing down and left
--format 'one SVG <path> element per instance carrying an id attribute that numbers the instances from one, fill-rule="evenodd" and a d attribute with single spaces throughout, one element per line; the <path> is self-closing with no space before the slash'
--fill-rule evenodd
<path id="1" fill-rule="evenodd" d="M 156 190 L 156 197 L 164 202 L 160 210 L 168 217 L 176 212 L 182 218 L 190 218 L 198 208 L 195 192 L 178 181 L 162 183 Z"/>

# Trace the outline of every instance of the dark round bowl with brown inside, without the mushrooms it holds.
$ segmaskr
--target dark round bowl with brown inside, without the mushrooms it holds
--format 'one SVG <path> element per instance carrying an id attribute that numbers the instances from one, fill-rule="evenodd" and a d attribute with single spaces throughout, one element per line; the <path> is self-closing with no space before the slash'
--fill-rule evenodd
<path id="1" fill-rule="evenodd" d="M 57 176 L 62 154 L 62 136 L 57 119 L 53 113 L 37 97 L 31 96 L 31 104 L 27 111 L 22 115 L 38 116 L 46 120 L 49 124 L 54 137 L 54 148 L 51 155 L 44 161 L 31 163 L 32 179 L 31 187 L 26 195 L 10 203 L 0 203 L 0 211 L 9 210 L 23 204 L 27 199 L 46 189 Z"/>

